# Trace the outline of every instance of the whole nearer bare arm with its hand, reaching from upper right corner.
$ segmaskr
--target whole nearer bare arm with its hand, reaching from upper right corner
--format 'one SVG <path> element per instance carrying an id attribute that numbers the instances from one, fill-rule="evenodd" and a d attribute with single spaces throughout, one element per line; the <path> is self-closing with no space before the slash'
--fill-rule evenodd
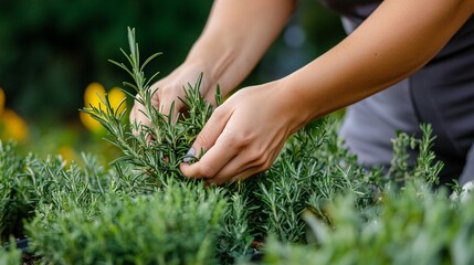
<path id="1" fill-rule="evenodd" d="M 326 54 L 220 106 L 192 147 L 208 152 L 182 172 L 219 184 L 267 169 L 291 134 L 414 73 L 473 11 L 473 0 L 385 0 Z"/>

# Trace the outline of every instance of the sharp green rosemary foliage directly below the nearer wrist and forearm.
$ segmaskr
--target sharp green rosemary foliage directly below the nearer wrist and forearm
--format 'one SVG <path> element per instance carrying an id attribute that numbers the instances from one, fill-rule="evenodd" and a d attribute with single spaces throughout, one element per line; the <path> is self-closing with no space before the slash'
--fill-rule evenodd
<path id="1" fill-rule="evenodd" d="M 306 231 L 301 214 L 306 209 L 325 218 L 323 206 L 340 193 L 354 193 L 361 205 L 370 201 L 375 194 L 368 187 L 382 184 L 375 178 L 378 172 L 356 166 L 355 157 L 338 145 L 328 120 L 289 140 L 255 191 L 263 203 L 261 211 L 267 215 L 266 233 L 284 242 L 301 242 Z"/>

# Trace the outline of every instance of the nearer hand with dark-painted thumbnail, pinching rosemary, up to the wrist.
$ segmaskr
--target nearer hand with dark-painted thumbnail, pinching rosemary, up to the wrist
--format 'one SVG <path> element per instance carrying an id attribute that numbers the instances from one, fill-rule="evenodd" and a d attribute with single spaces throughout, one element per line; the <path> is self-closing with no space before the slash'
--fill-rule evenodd
<path id="1" fill-rule="evenodd" d="M 214 110 L 189 151 L 206 153 L 196 163 L 181 163 L 181 172 L 223 184 L 268 169 L 303 124 L 285 93 L 277 82 L 235 93 Z"/>

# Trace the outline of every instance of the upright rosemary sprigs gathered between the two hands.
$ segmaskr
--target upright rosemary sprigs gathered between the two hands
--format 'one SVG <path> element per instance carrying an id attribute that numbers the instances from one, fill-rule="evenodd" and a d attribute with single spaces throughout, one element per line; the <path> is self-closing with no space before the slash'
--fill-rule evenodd
<path id="1" fill-rule="evenodd" d="M 152 93 L 149 89 L 151 78 L 145 78 L 144 67 L 159 53 L 151 55 L 140 64 L 138 44 L 135 43 L 135 31 L 128 30 L 128 41 L 130 54 L 123 50 L 130 64 L 128 68 L 123 63 L 110 61 L 115 65 L 125 70 L 134 80 L 134 84 L 124 82 L 124 85 L 131 87 L 137 93 L 136 100 L 145 106 L 144 115 L 150 120 L 151 126 L 141 124 L 124 125 L 124 113 L 117 114 L 112 108 L 108 97 L 103 98 L 104 109 L 92 107 L 85 108 L 84 112 L 97 119 L 108 131 L 108 141 L 123 150 L 124 155 L 115 162 L 126 162 L 138 166 L 148 174 L 156 177 L 161 183 L 165 178 L 176 178 L 181 176 L 178 170 L 179 163 L 188 152 L 189 147 L 194 140 L 197 134 L 202 129 L 206 120 L 210 118 L 212 107 L 204 103 L 199 95 L 201 78 L 191 87 L 189 85 L 186 97 L 182 98 L 186 107 L 189 109 L 189 116 L 178 115 L 177 120 L 172 120 L 173 114 L 164 115 L 152 105 Z M 117 108 L 118 109 L 118 108 Z M 171 106 L 171 109 L 173 107 Z M 131 129 L 140 131 L 137 135 L 131 134 Z M 154 139 L 150 141 L 149 139 Z"/>

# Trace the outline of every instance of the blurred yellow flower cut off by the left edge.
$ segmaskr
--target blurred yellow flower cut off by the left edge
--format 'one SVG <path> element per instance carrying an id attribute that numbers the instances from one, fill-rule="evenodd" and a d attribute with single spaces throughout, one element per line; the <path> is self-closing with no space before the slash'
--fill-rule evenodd
<path id="1" fill-rule="evenodd" d="M 24 141 L 28 138 L 27 123 L 13 110 L 3 109 L 0 117 L 3 127 L 2 138 L 13 139 L 15 141 Z"/>

